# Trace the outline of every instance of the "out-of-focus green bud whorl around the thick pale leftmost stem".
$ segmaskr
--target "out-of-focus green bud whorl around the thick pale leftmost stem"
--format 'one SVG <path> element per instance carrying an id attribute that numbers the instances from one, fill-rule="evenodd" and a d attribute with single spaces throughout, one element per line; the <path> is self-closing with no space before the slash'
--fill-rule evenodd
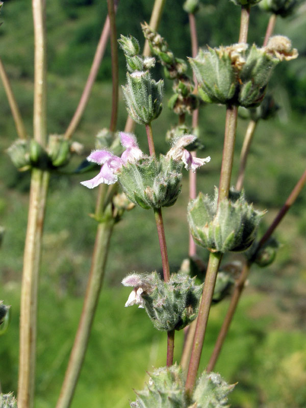
<path id="1" fill-rule="evenodd" d="M 71 153 L 80 154 L 82 148 L 80 143 L 71 142 L 62 135 L 49 135 L 45 149 L 34 139 L 17 139 L 7 149 L 7 153 L 17 169 L 25 171 L 32 167 L 54 169 L 65 166 Z"/>

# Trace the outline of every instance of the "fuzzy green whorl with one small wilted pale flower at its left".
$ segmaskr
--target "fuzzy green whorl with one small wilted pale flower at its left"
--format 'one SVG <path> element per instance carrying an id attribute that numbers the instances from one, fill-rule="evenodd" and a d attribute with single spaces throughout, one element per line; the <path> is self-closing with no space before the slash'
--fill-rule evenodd
<path id="1" fill-rule="evenodd" d="M 202 285 L 194 281 L 181 273 L 173 273 L 169 282 L 164 282 L 157 272 L 133 273 L 122 281 L 124 286 L 134 287 L 125 306 L 139 304 L 158 330 L 181 330 L 197 315 Z"/>

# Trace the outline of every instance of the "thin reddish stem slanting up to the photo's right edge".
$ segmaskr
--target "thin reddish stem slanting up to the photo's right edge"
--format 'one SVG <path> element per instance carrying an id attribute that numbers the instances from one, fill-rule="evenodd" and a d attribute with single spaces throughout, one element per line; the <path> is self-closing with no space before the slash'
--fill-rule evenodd
<path id="1" fill-rule="evenodd" d="M 282 221 L 282 219 L 286 215 L 287 211 L 293 205 L 294 201 L 298 197 L 298 195 L 301 192 L 302 188 L 304 187 L 305 183 L 306 183 L 306 170 L 304 171 L 301 178 L 299 179 L 299 181 L 295 185 L 294 189 L 290 193 L 290 195 L 287 198 L 284 206 L 281 208 L 281 210 L 279 210 L 278 214 L 274 218 L 274 220 L 271 223 L 270 227 L 268 228 L 267 232 L 265 233 L 265 235 L 260 240 L 260 242 L 259 242 L 259 244 L 257 246 L 256 252 L 254 253 L 252 259 L 244 265 L 244 267 L 243 267 L 243 269 L 241 271 L 240 277 L 238 279 L 238 282 L 235 285 L 235 290 L 234 290 L 234 293 L 233 293 L 232 298 L 231 298 L 230 306 L 228 307 L 226 316 L 225 316 L 224 321 L 222 323 L 222 326 L 221 326 L 221 329 L 220 329 L 220 332 L 219 332 L 219 335 L 218 335 L 214 350 L 212 352 L 210 361 L 209 361 L 208 366 L 207 366 L 207 371 L 212 371 L 214 369 L 214 367 L 215 367 L 216 361 L 217 361 L 218 356 L 220 354 L 220 351 L 221 351 L 222 345 L 224 343 L 225 337 L 227 335 L 228 329 L 229 329 L 230 324 L 232 322 L 233 316 L 234 316 L 234 314 L 236 312 L 237 304 L 238 304 L 238 301 L 240 299 L 241 293 L 243 291 L 244 284 L 245 284 L 245 281 L 247 279 L 247 276 L 248 276 L 248 273 L 249 273 L 249 270 L 250 270 L 250 267 L 252 265 L 253 260 L 256 258 L 256 255 L 257 255 L 258 251 L 260 250 L 260 248 L 262 248 L 262 246 L 265 244 L 265 242 L 271 237 L 271 235 L 273 234 L 276 226 Z"/>

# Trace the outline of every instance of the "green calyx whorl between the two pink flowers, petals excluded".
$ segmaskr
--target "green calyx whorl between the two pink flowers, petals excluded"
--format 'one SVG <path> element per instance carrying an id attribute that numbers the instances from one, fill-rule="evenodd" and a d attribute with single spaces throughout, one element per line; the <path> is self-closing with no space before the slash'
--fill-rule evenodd
<path id="1" fill-rule="evenodd" d="M 181 192 L 182 169 L 182 162 L 163 155 L 150 157 L 122 166 L 118 181 L 127 198 L 140 207 L 170 207 Z"/>

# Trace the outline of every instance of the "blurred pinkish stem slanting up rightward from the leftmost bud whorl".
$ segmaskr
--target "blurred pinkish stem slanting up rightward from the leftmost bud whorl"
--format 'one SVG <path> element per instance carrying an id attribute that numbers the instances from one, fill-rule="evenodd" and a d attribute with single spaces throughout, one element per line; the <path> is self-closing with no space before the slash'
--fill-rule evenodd
<path id="1" fill-rule="evenodd" d="M 115 11 L 117 10 L 117 5 L 119 3 L 119 0 L 115 1 Z M 97 73 L 98 73 L 98 69 L 101 63 L 101 60 L 104 57 L 104 53 L 105 53 L 105 49 L 106 49 L 106 45 L 107 45 L 107 41 L 110 35 L 110 18 L 109 16 L 106 17 L 105 20 L 105 24 L 97 45 L 97 49 L 94 55 L 94 59 L 90 68 L 90 72 L 87 78 L 87 82 L 86 85 L 84 87 L 81 99 L 79 101 L 79 105 L 77 107 L 77 110 L 75 110 L 75 113 L 67 127 L 67 130 L 65 132 L 65 138 L 69 139 L 71 138 L 71 136 L 73 135 L 73 133 L 75 132 L 75 129 L 77 129 L 81 117 L 84 113 L 84 110 L 86 108 L 89 96 L 90 96 L 90 92 L 92 89 L 92 86 L 95 82 Z"/>

